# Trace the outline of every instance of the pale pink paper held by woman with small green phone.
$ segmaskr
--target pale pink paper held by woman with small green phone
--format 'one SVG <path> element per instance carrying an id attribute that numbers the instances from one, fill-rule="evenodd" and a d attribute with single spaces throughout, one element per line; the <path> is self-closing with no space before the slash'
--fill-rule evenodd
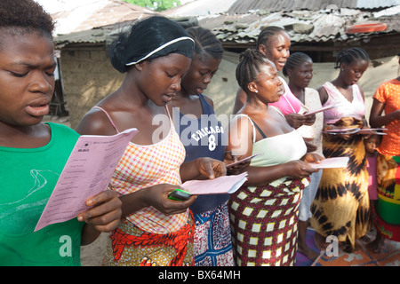
<path id="1" fill-rule="evenodd" d="M 214 179 L 188 180 L 180 185 L 190 194 L 235 193 L 247 180 L 247 172 L 240 175 L 222 176 Z"/>

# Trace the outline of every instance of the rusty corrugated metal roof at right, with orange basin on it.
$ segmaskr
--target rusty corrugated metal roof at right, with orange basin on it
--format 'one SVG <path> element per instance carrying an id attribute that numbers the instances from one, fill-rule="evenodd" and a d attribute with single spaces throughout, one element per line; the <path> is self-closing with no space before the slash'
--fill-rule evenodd
<path id="1" fill-rule="evenodd" d="M 384 13 L 382 13 L 384 14 Z M 347 34 L 348 26 L 383 22 L 388 28 L 382 32 Z M 233 46 L 236 43 L 252 44 L 257 41 L 260 30 L 267 26 L 285 28 L 292 43 L 305 42 L 343 42 L 358 40 L 372 34 L 388 34 L 400 32 L 400 13 L 374 18 L 372 12 L 361 12 L 354 9 L 340 12 L 311 12 L 307 10 L 293 12 L 272 12 L 262 14 L 220 15 L 212 19 L 203 19 L 199 24 L 210 28 L 222 43 Z"/>

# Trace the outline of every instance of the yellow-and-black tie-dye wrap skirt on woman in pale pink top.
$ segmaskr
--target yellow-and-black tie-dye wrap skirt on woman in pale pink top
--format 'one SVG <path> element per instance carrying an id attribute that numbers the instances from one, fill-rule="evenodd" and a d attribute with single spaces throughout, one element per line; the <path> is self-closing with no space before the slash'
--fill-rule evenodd
<path id="1" fill-rule="evenodd" d="M 342 118 L 335 125 L 361 128 L 363 122 L 352 117 Z M 327 237 L 335 235 L 354 248 L 356 239 L 367 233 L 370 201 L 368 197 L 368 171 L 363 137 L 353 135 L 349 140 L 324 134 L 325 158 L 349 157 L 348 166 L 324 169 L 316 198 L 311 205 L 311 225 L 317 233 Z"/>

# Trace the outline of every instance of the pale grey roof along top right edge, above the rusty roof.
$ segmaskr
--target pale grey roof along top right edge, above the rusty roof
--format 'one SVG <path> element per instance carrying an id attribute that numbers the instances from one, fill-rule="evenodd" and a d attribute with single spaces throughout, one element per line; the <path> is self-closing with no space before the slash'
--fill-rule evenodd
<path id="1" fill-rule="evenodd" d="M 227 11 L 229 14 L 247 13 L 254 10 L 268 12 L 292 12 L 295 10 L 319 11 L 334 8 L 380 9 L 400 4 L 400 0 L 237 0 Z"/>

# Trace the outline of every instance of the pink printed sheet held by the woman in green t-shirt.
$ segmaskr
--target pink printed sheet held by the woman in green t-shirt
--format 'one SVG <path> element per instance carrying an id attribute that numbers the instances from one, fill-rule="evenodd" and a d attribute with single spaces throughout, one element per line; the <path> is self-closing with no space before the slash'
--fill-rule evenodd
<path id="1" fill-rule="evenodd" d="M 65 222 L 89 209 L 86 200 L 107 189 L 136 129 L 114 136 L 82 135 L 69 155 L 35 232 L 46 225 Z"/>

